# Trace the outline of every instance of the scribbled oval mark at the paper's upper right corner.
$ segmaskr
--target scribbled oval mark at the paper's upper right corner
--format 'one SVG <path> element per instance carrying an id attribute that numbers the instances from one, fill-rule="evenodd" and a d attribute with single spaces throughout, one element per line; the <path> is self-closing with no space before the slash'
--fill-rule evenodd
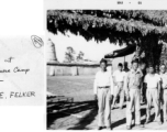
<path id="1" fill-rule="evenodd" d="M 31 40 L 36 48 L 40 48 L 44 45 L 44 42 L 40 36 L 32 35 Z"/>

